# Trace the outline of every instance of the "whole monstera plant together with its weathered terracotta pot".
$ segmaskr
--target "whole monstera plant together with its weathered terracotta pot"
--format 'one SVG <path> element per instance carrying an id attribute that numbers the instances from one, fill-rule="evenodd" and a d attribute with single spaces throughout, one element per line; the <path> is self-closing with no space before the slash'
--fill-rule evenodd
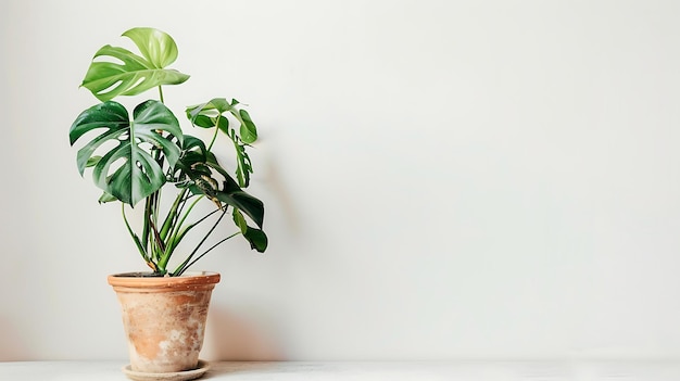
<path id="1" fill-rule="evenodd" d="M 267 247 L 264 205 L 244 191 L 253 173 L 247 149 L 257 131 L 237 100 L 214 98 L 182 112 L 186 125 L 212 129 L 210 138 L 185 134 L 163 99 L 163 86 L 189 78 L 168 68 L 177 58 L 175 41 L 147 27 L 123 36 L 139 54 L 109 45 L 97 51 L 81 87 L 100 103 L 78 115 L 70 140 L 80 145 L 76 157 L 80 175 L 91 170 L 102 190 L 100 203 L 121 204 L 125 228 L 150 268 L 108 278 L 121 302 L 129 339 L 128 377 L 178 372 L 179 378 L 196 378 L 204 371 L 198 356 L 210 294 L 219 275 L 187 270 L 236 236 L 257 252 Z M 131 112 L 115 101 L 148 90 L 158 91 L 158 99 L 146 100 Z M 223 141 L 235 149 L 231 170 L 213 152 Z M 202 208 L 200 203 L 211 207 Z M 131 208 L 141 218 L 137 224 L 128 219 Z M 235 232 L 215 240 L 213 233 L 222 231 L 217 227 L 229 219 Z M 192 247 L 180 245 L 197 233 Z"/>

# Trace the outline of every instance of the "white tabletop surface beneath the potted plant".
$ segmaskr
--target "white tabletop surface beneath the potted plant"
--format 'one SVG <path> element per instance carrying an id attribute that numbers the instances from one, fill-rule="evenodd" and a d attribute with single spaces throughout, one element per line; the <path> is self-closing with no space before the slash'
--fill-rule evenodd
<path id="1" fill-rule="evenodd" d="M 124 361 L 0 363 L 1 381 L 127 380 Z M 680 381 L 680 361 L 213 361 L 201 380 Z"/>

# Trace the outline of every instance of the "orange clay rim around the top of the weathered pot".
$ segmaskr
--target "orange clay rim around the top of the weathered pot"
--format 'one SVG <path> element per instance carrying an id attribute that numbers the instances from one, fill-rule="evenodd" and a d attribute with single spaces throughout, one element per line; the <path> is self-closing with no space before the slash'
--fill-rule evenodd
<path id="1" fill-rule="evenodd" d="M 144 272 L 121 272 L 106 277 L 109 284 L 126 289 L 177 289 L 212 285 L 219 282 L 219 274 L 187 271 L 179 277 L 144 277 Z M 150 272 L 146 272 L 150 274 Z"/>

